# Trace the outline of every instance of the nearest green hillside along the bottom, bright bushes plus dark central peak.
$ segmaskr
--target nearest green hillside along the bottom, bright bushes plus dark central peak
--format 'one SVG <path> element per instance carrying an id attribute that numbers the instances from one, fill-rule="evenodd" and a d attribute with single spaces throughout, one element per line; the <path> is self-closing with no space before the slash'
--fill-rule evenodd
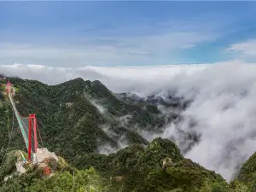
<path id="1" fill-rule="evenodd" d="M 15 151 L 9 153 L 0 176 L 2 172 L 14 174 L 14 158 Z M 166 158 L 172 163 L 163 168 Z M 59 159 L 52 177 L 42 176 L 39 167 L 31 166 L 26 173 L 3 182 L 0 191 L 198 191 L 206 183 L 218 186 L 212 189 L 228 189 L 220 175 L 183 158 L 167 139 L 154 139 L 146 148 L 132 144 L 108 156 L 85 155 L 76 165 L 79 169 Z"/>

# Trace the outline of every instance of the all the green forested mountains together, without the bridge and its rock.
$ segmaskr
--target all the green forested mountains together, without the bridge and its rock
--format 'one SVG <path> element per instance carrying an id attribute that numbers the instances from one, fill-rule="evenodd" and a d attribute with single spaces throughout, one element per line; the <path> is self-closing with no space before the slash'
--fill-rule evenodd
<path id="1" fill-rule="evenodd" d="M 67 160 L 68 166 L 55 172 L 54 177 L 44 179 L 32 168 L 6 183 L 2 181 L 0 191 L 72 191 L 74 188 L 74 191 L 113 192 L 238 192 L 253 189 L 255 154 L 229 184 L 219 174 L 183 157 L 184 151 L 200 142 L 200 135 L 193 131 L 179 131 L 184 141 L 191 141 L 186 148 L 177 148 L 177 143 L 168 139 L 155 138 L 150 142 L 143 138 L 143 131 L 160 133 L 166 124 L 173 123 L 178 129 L 183 120 L 181 113 L 192 101 L 176 96 L 173 91 L 165 97 L 140 97 L 116 94 L 100 81 L 84 79 L 56 85 L 16 78 L 10 81 L 15 84 L 14 100 L 20 114 L 36 113 L 44 147 Z M 172 110 L 166 113 L 165 108 Z M 193 119 L 189 121 L 192 128 L 195 124 Z M 9 101 L 2 96 L 0 180 L 15 172 L 12 153 L 17 149 L 26 151 L 18 131 L 9 140 L 15 127 Z M 171 165 L 163 167 L 165 160 L 172 160 Z M 74 185 L 73 181 L 76 181 Z"/>

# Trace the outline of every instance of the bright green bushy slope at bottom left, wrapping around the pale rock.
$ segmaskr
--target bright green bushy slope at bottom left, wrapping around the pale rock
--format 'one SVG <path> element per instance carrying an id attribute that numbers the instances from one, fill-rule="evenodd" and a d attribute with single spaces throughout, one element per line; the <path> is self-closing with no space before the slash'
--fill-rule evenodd
<path id="1" fill-rule="evenodd" d="M 48 163 L 51 168 L 49 175 L 44 174 L 44 167 L 26 164 L 26 172 L 16 172 L 15 161 L 20 158 L 18 151 L 11 151 L 7 155 L 0 170 L 0 177 L 3 173 L 10 174 L 5 181 L 0 181 L 1 192 L 43 192 L 43 191 L 107 191 L 102 177 L 93 167 L 86 170 L 78 170 L 70 166 L 66 160 L 58 157 L 55 164 Z M 43 164 L 41 164 L 43 165 Z M 89 190 L 88 190 L 89 189 Z"/>

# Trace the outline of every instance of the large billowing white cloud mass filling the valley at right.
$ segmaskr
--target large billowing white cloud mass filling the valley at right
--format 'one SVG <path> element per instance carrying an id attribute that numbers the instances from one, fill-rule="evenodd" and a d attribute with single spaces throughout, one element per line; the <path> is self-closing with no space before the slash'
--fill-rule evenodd
<path id="1" fill-rule="evenodd" d="M 193 88 L 195 102 L 183 113 L 185 120 L 178 125 L 183 131 L 201 134 L 201 142 L 186 154 L 208 169 L 220 172 L 225 178 L 255 152 L 256 66 L 249 64 L 206 67 L 190 76 L 174 78 L 169 88 L 177 87 L 180 94 L 189 96 Z M 196 119 L 190 128 L 189 119 Z M 162 137 L 176 137 L 179 147 L 188 142 L 167 126 Z"/>

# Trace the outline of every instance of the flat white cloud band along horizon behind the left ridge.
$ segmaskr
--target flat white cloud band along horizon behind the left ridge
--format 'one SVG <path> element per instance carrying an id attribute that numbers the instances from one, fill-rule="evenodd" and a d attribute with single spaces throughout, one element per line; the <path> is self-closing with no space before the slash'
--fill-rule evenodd
<path id="1" fill-rule="evenodd" d="M 19 76 L 22 79 L 38 79 L 46 84 L 59 84 L 74 78 L 101 80 L 114 92 L 135 91 L 144 96 L 152 92 L 152 88 L 162 87 L 180 73 L 191 74 L 203 70 L 207 65 L 170 65 L 159 67 L 45 67 L 38 65 L 2 65 L 0 72 L 10 76 Z M 159 79 L 159 77 L 161 77 Z M 145 84 L 151 86 L 145 87 Z M 143 92 L 141 92 L 143 90 Z"/>

